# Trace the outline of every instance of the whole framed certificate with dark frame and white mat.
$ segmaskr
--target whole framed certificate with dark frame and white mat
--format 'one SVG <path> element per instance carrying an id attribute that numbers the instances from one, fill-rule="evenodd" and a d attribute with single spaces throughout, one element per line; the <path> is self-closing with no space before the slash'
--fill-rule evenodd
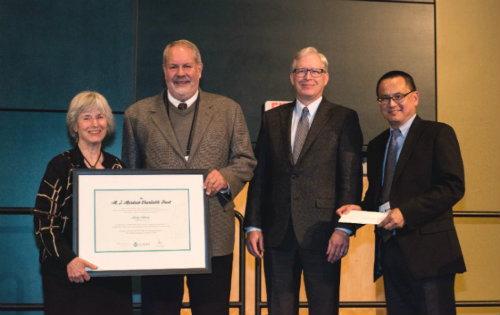
<path id="1" fill-rule="evenodd" d="M 91 276 L 211 272 L 204 170 L 73 176 L 73 249 Z"/>

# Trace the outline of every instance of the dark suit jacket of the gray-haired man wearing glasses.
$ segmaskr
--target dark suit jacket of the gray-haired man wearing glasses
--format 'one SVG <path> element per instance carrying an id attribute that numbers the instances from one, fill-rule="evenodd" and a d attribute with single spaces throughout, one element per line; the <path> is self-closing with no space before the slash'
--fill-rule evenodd
<path id="1" fill-rule="evenodd" d="M 337 226 L 337 207 L 361 198 L 361 129 L 356 112 L 323 98 L 294 165 L 294 106 L 295 102 L 264 113 L 245 226 L 261 228 L 265 246 L 276 247 L 291 218 L 299 245 L 323 250 Z"/>

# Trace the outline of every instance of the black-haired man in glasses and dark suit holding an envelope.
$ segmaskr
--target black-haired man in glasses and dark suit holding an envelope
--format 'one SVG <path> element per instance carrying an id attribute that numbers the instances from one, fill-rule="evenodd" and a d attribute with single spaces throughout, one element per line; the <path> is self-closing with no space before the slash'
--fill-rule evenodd
<path id="1" fill-rule="evenodd" d="M 389 211 L 376 229 L 375 280 L 384 275 L 388 314 L 455 314 L 455 274 L 465 263 L 452 206 L 464 168 L 453 129 L 417 116 L 413 78 L 391 71 L 377 83 L 385 130 L 368 144 L 362 208 Z M 339 215 L 361 207 L 346 205 Z"/>

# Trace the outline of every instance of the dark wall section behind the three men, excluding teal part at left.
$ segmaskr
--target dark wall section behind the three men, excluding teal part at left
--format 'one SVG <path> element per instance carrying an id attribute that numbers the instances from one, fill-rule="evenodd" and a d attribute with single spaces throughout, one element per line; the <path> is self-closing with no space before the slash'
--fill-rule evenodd
<path id="1" fill-rule="evenodd" d="M 434 5 L 374 1 L 185 0 L 138 6 L 137 96 L 162 88 L 162 51 L 186 38 L 201 51 L 202 88 L 243 107 L 252 139 L 261 105 L 294 98 L 289 67 L 315 46 L 330 63 L 326 97 L 358 111 L 365 143 L 386 128 L 375 84 L 385 72 L 414 75 L 419 113 L 435 119 Z"/>

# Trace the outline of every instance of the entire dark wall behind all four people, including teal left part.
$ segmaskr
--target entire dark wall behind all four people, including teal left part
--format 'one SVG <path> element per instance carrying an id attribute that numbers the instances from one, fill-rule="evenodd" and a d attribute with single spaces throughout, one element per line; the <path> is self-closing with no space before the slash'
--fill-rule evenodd
<path id="1" fill-rule="evenodd" d="M 187 38 L 204 62 L 202 88 L 238 101 L 252 139 L 266 100 L 292 100 L 294 53 L 330 62 L 325 96 L 358 111 L 365 143 L 386 128 L 375 83 L 410 72 L 419 113 L 435 119 L 434 4 L 387 1 L 0 1 L 0 207 L 32 207 L 47 162 L 70 147 L 71 98 L 97 90 L 117 112 L 159 93 L 164 46 Z M 30 216 L 0 215 L 0 303 L 41 302 Z M 5 254 L 9 253 L 9 254 Z"/>

